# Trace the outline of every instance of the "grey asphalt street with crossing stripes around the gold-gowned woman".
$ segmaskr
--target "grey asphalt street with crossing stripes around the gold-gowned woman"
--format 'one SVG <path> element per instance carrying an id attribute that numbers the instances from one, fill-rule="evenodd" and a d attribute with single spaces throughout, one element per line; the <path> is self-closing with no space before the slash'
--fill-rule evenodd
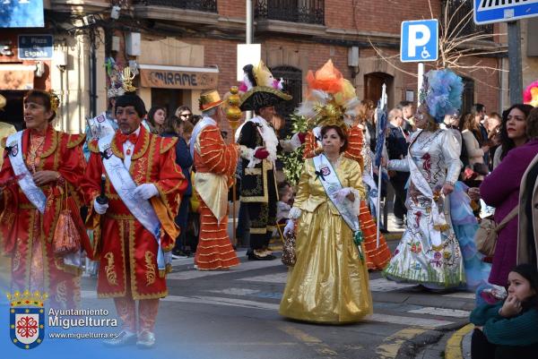
<path id="1" fill-rule="evenodd" d="M 390 241 L 394 249 L 397 241 Z M 370 272 L 374 314 L 334 326 L 289 321 L 278 313 L 287 268 L 280 260 L 199 271 L 192 258 L 174 260 L 169 296 L 161 300 L 154 353 L 143 357 L 439 358 L 456 329 L 468 321 L 473 294 L 433 293 L 395 284 Z M 95 278 L 83 278 L 82 307 L 108 308 L 97 299 Z"/>

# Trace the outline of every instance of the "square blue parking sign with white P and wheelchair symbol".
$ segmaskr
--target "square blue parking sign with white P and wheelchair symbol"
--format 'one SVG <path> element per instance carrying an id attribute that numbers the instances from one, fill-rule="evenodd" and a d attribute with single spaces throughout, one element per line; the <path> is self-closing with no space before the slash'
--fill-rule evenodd
<path id="1" fill-rule="evenodd" d="M 402 21 L 400 61 L 417 63 L 438 59 L 438 20 Z"/>

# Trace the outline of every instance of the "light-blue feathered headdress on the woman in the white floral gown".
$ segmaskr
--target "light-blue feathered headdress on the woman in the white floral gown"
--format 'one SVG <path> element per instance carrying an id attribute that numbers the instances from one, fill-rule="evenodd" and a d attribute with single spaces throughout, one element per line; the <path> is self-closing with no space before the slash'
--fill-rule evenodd
<path id="1" fill-rule="evenodd" d="M 445 115 L 456 115 L 462 107 L 464 82 L 450 70 L 430 70 L 424 74 L 419 99 L 438 124 Z"/>

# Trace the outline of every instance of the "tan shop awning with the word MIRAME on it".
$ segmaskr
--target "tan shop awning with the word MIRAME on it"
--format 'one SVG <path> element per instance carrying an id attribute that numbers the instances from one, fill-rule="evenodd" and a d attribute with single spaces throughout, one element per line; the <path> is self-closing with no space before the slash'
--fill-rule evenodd
<path id="1" fill-rule="evenodd" d="M 163 66 L 139 64 L 142 87 L 159 89 L 216 89 L 219 69 L 216 67 Z"/>

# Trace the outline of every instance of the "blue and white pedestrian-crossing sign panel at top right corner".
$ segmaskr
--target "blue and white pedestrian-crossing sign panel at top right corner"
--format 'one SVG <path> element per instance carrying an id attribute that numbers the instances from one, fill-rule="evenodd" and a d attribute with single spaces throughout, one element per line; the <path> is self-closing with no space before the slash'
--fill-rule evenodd
<path id="1" fill-rule="evenodd" d="M 538 16 L 538 0 L 473 0 L 479 25 Z"/>

